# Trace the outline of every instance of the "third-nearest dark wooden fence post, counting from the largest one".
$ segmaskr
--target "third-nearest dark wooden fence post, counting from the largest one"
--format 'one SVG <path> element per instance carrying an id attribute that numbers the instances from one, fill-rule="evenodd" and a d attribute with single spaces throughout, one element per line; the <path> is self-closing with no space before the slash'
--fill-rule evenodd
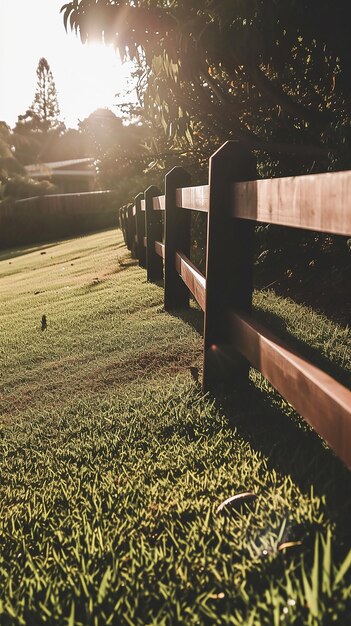
<path id="1" fill-rule="evenodd" d="M 163 278 L 163 259 L 155 252 L 155 241 L 162 241 L 161 212 L 154 211 L 152 200 L 159 196 L 160 190 L 151 185 L 144 193 L 145 198 L 145 224 L 146 224 L 146 271 L 147 280 L 155 282 Z"/>

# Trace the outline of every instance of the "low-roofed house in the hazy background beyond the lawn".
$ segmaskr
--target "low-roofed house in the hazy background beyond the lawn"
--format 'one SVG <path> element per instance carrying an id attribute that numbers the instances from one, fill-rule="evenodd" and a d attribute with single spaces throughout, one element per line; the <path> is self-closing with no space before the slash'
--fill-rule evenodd
<path id="1" fill-rule="evenodd" d="M 79 193 L 96 190 L 95 159 L 71 159 L 52 163 L 26 165 L 27 175 L 34 180 L 50 180 L 58 193 Z"/>

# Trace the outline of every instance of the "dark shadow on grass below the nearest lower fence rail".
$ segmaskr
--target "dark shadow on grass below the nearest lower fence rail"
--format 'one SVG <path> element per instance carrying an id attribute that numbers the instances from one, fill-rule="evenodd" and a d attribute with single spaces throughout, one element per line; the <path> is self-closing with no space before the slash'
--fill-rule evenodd
<path id="1" fill-rule="evenodd" d="M 291 476 L 304 493 L 313 485 L 314 494 L 326 498 L 330 519 L 350 541 L 350 472 L 292 408 L 285 411 L 279 403 L 273 388 L 268 394 L 253 384 L 243 393 L 222 391 L 216 400 L 238 435 L 265 455 L 268 469 Z"/>

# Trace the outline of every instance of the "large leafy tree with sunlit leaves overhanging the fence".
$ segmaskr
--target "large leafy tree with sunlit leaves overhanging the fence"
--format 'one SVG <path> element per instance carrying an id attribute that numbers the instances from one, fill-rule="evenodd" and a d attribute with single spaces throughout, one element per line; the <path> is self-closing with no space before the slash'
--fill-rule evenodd
<path id="1" fill-rule="evenodd" d="M 173 146 L 201 157 L 239 139 L 266 173 L 350 163 L 348 0 L 74 0 L 61 10 L 82 41 L 100 36 L 144 63 L 143 103 Z"/>

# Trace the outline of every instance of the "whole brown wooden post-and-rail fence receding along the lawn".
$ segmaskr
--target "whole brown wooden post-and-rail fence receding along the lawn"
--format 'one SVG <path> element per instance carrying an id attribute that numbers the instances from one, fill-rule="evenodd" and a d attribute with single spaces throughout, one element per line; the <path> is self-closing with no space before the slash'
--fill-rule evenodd
<path id="1" fill-rule="evenodd" d="M 227 142 L 208 185 L 175 167 L 165 195 L 149 187 L 122 207 L 124 239 L 148 280 L 164 277 L 166 311 L 187 307 L 189 292 L 204 311 L 204 390 L 246 384 L 253 365 L 351 467 L 351 392 L 251 316 L 255 224 L 351 235 L 351 171 L 256 179 L 251 154 Z M 190 210 L 207 213 L 206 276 L 189 259 Z"/>

